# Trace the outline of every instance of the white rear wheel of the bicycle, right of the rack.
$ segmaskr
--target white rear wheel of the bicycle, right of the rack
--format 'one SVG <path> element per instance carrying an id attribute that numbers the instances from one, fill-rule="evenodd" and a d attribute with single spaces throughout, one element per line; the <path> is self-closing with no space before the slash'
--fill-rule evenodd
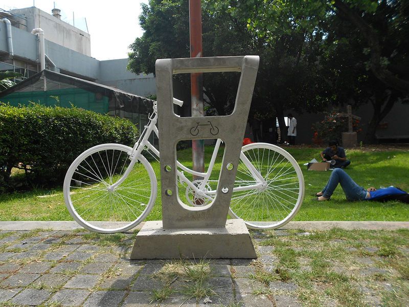
<path id="1" fill-rule="evenodd" d="M 237 167 L 230 215 L 242 218 L 252 229 L 287 224 L 304 198 L 304 177 L 297 161 L 281 147 L 267 143 L 248 144 L 241 151 L 245 158 L 240 158 Z"/>

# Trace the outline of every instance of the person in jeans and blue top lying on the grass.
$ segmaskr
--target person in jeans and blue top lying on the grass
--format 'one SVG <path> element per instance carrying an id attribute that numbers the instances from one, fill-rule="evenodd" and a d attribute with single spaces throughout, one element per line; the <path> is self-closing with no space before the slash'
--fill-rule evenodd
<path id="1" fill-rule="evenodd" d="M 348 176 L 345 170 L 340 168 L 332 171 L 326 186 L 320 192 L 315 194 L 315 196 L 317 196 L 316 200 L 319 202 L 329 201 L 338 184 L 340 184 L 344 190 L 348 201 L 400 201 L 409 204 L 409 194 L 405 191 L 394 186 L 378 190 L 374 187 L 365 189 L 356 184 L 352 178 Z"/>

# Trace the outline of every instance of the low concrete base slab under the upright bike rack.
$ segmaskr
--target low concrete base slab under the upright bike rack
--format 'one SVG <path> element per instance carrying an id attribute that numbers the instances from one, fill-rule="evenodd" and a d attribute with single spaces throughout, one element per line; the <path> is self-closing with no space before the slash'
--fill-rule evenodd
<path id="1" fill-rule="evenodd" d="M 146 222 L 138 233 L 131 259 L 257 258 L 241 219 L 225 227 L 163 229 L 162 221 Z"/>

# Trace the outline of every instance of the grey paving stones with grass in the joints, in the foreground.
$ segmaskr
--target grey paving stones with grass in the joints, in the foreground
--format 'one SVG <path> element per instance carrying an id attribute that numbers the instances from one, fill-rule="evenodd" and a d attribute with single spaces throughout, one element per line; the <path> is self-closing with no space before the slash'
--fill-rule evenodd
<path id="1" fill-rule="evenodd" d="M 257 259 L 187 262 L 130 260 L 135 235 L 0 231 L 0 306 L 376 306 L 408 295 L 407 229 L 252 231 Z M 208 279 L 185 274 L 197 264 Z"/>

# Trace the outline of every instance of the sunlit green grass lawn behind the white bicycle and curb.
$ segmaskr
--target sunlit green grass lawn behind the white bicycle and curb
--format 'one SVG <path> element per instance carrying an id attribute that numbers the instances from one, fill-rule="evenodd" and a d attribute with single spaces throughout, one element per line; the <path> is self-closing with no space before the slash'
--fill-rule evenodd
<path id="1" fill-rule="evenodd" d="M 407 221 L 409 205 L 399 202 L 348 202 L 340 187 L 335 190 L 330 202 L 314 202 L 313 194 L 321 191 L 330 171 L 308 171 L 303 164 L 319 158 L 320 148 L 286 147 L 298 161 L 304 173 L 305 198 L 293 221 Z M 206 160 L 210 160 L 211 146 L 206 147 Z M 178 160 L 191 167 L 191 149 L 178 152 Z M 220 169 L 222 148 L 219 150 L 215 170 Z M 349 149 L 347 156 L 352 161 L 347 172 L 361 186 L 398 186 L 409 190 L 409 152 L 407 150 L 377 151 L 372 149 Z M 159 164 L 152 162 L 159 179 Z M 214 174 L 217 178 L 217 174 Z M 158 181 L 160 189 L 160 181 Z M 181 196 L 183 199 L 183 196 Z M 72 220 L 65 208 L 62 189 L 33 190 L 0 195 L 1 221 L 69 221 Z M 147 220 L 161 220 L 161 197 Z"/>

